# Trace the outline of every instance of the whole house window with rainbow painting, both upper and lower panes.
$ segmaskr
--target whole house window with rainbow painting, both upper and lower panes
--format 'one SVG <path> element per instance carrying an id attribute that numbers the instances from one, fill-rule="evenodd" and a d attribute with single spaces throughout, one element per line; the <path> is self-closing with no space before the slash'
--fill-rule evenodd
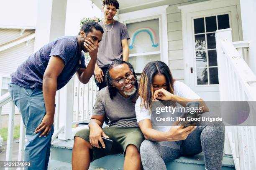
<path id="1" fill-rule="evenodd" d="M 150 61 L 161 60 L 159 18 L 126 24 L 130 35 L 129 62 L 141 73 Z"/>

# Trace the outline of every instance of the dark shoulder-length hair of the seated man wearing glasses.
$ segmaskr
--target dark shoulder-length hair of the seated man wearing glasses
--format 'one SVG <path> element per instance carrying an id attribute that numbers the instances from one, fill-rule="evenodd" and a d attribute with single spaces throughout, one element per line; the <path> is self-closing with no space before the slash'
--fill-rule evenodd
<path id="1" fill-rule="evenodd" d="M 106 75 L 105 75 L 105 79 L 106 79 L 106 82 L 107 82 L 108 91 L 109 91 L 111 99 L 113 99 L 113 97 L 115 97 L 118 90 L 115 87 L 112 86 L 113 85 L 113 79 L 109 74 L 109 70 L 112 69 L 113 67 L 121 65 L 121 64 L 127 64 L 128 67 L 130 68 L 130 70 L 133 73 L 133 76 L 135 78 L 135 84 L 134 84 L 134 87 L 136 87 L 136 93 L 135 94 L 137 94 L 137 92 L 138 92 L 138 82 L 137 82 L 137 77 L 136 77 L 135 72 L 134 72 L 133 65 L 131 65 L 129 62 L 125 62 L 123 60 L 115 60 L 115 61 L 110 63 L 110 65 L 108 66 L 108 70 L 106 72 Z"/>

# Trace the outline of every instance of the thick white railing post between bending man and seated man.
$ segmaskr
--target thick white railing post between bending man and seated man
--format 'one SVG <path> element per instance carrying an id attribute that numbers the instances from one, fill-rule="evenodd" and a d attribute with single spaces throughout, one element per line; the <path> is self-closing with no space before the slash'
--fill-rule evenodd
<path id="1" fill-rule="evenodd" d="M 59 140 L 69 140 L 72 138 L 73 100 L 74 77 L 60 91 L 59 110 L 61 115 L 59 116 L 59 127 L 64 125 L 64 130 L 59 134 Z"/>

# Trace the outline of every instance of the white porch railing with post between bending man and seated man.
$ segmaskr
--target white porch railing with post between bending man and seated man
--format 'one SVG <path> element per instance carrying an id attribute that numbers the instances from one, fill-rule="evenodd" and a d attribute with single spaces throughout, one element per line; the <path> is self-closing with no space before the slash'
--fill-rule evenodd
<path id="1" fill-rule="evenodd" d="M 57 91 L 52 142 L 57 136 L 60 140 L 71 139 L 72 125 L 89 122 L 96 95 L 97 85 L 93 76 L 84 85 L 74 75 L 65 87 Z"/>

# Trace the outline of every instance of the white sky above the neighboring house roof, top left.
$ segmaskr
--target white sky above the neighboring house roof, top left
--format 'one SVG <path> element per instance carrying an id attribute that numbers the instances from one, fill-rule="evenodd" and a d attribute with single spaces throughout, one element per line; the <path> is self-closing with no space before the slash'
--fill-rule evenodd
<path id="1" fill-rule="evenodd" d="M 36 26 L 38 0 L 0 0 L 0 25 Z"/>

